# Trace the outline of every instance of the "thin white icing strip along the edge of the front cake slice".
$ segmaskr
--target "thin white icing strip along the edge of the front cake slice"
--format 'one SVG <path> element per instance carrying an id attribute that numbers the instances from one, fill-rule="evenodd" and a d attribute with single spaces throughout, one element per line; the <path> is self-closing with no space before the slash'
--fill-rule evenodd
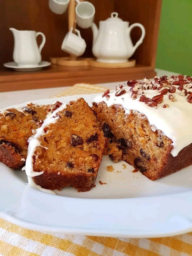
<path id="1" fill-rule="evenodd" d="M 30 137 L 29 145 L 28 145 L 28 156 L 26 159 L 25 167 L 23 167 L 23 169 L 22 169 L 22 170 L 25 170 L 25 172 L 28 176 L 29 186 L 39 189 L 41 191 L 44 191 L 46 193 L 55 194 L 55 192 L 53 192 L 52 190 L 44 189 L 41 186 L 36 185 L 36 183 L 33 181 L 32 177 L 43 174 L 43 172 L 34 172 L 33 171 L 33 156 L 34 156 L 36 147 L 43 147 L 43 146 L 41 146 L 41 143 L 38 138 L 45 133 L 44 128 L 49 126 L 50 124 L 55 124 L 57 122 L 57 120 L 59 119 L 59 116 L 54 117 L 56 115 L 56 113 L 65 109 L 71 101 L 76 102 L 79 99 L 80 98 L 77 97 L 77 98 L 74 98 L 73 100 L 67 101 L 64 104 L 62 104 L 59 108 L 57 108 L 52 114 L 48 114 L 46 119 L 44 120 L 44 123 L 42 124 L 42 126 L 35 130 L 36 134 Z M 43 147 L 43 148 L 48 150 L 48 148 L 46 148 L 46 147 Z"/>

